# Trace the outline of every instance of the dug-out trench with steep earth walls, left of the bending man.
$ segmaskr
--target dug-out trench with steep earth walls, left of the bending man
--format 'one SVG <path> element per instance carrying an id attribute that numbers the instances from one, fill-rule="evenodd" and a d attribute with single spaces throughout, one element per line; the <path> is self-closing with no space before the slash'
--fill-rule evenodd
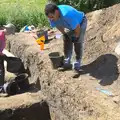
<path id="1" fill-rule="evenodd" d="M 12 41 L 11 41 L 12 39 Z M 29 75 L 30 89 L 17 95 L 0 97 L 1 120 L 50 120 L 46 97 L 41 92 L 40 71 L 43 60 L 39 60 L 39 46 L 27 34 L 8 36 L 7 49 L 20 58 Z M 10 40 L 10 41 L 9 41 Z M 19 40 L 19 42 L 17 41 Z M 22 40 L 25 40 L 24 43 Z M 28 41 L 27 41 L 28 40 Z M 30 41 L 31 42 L 30 42 Z M 12 67 L 12 66 L 11 66 Z M 14 77 L 8 73 L 7 77 Z M 8 79 L 7 78 L 7 79 Z"/>

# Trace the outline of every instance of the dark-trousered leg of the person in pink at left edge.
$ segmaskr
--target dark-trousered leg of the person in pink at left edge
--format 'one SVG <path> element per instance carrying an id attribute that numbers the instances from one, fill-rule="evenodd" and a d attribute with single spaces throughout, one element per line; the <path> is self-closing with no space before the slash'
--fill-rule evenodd
<path id="1" fill-rule="evenodd" d="M 0 59 L 0 86 L 4 84 L 5 70 L 4 70 L 4 60 Z"/>

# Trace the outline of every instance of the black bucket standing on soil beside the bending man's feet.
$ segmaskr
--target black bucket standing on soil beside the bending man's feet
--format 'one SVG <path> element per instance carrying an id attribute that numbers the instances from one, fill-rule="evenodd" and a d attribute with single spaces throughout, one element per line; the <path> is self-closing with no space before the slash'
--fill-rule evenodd
<path id="1" fill-rule="evenodd" d="M 63 65 L 63 56 L 60 56 L 59 52 L 50 53 L 49 58 L 54 69 L 57 69 Z"/>

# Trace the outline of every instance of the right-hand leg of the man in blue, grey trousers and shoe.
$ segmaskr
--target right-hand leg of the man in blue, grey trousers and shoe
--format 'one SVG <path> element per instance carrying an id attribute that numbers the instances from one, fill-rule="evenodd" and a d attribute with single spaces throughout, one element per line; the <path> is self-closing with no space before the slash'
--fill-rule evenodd
<path id="1" fill-rule="evenodd" d="M 86 26 L 87 26 L 87 20 L 85 18 L 80 27 L 79 40 L 74 42 L 74 50 L 76 54 L 76 62 L 74 63 L 74 69 L 77 71 L 80 69 L 82 55 L 83 55 L 84 36 L 85 36 Z"/>

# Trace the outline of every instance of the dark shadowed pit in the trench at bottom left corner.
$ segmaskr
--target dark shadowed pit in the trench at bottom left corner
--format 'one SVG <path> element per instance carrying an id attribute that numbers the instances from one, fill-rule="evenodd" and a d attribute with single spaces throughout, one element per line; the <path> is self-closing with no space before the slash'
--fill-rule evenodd
<path id="1" fill-rule="evenodd" d="M 26 108 L 5 110 L 0 114 L 0 120 L 51 120 L 51 116 L 47 102 L 41 101 Z"/>

